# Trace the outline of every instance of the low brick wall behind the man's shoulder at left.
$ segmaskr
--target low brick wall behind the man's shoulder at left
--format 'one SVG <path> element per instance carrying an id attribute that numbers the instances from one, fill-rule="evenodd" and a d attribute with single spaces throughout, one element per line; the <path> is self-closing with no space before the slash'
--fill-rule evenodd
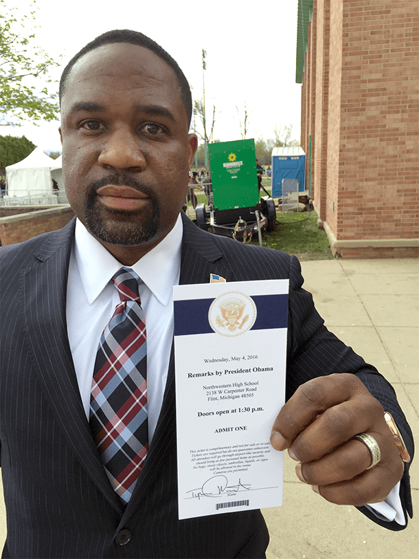
<path id="1" fill-rule="evenodd" d="M 41 233 L 55 231 L 74 217 L 71 208 L 54 208 L 0 218 L 0 241 L 3 246 L 32 239 Z"/>

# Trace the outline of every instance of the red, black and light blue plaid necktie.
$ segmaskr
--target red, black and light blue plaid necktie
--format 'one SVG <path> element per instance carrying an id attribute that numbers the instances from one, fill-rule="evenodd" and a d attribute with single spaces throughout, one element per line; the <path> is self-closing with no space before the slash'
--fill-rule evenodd
<path id="1" fill-rule="evenodd" d="M 112 487 L 128 503 L 148 449 L 146 322 L 139 277 L 121 268 L 120 295 L 100 338 L 90 400 L 90 426 Z"/>

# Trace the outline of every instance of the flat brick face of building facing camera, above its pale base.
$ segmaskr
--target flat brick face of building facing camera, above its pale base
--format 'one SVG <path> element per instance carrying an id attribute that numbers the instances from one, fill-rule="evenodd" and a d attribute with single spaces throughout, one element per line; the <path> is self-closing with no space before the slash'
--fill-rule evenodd
<path id="1" fill-rule="evenodd" d="M 337 239 L 418 236 L 417 15 L 417 1 L 343 2 Z"/>

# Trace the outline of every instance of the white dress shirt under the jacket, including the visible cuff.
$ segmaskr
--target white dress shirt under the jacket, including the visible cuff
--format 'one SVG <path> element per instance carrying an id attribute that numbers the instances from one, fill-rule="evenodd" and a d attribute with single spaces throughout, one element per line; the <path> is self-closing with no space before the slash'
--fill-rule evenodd
<path id="1" fill-rule="evenodd" d="M 170 233 L 131 267 L 141 279 L 139 296 L 147 329 L 148 440 L 155 432 L 166 388 L 173 340 L 173 286 L 179 285 L 183 226 L 179 215 Z M 111 278 L 122 267 L 77 219 L 67 287 L 67 331 L 80 395 L 89 421 L 90 393 L 100 336 L 120 303 Z M 367 505 L 385 520 L 405 525 L 400 482 L 386 501 Z"/>

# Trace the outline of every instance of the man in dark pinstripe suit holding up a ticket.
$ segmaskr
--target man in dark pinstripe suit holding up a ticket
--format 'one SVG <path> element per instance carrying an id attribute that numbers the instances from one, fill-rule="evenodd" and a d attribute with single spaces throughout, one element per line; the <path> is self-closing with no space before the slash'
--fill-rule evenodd
<path id="1" fill-rule="evenodd" d="M 211 273 L 227 281 L 289 278 L 288 401 L 272 446 L 288 448 L 299 479 L 326 500 L 403 529 L 409 464 L 383 407 L 410 452 L 413 441 L 391 386 L 326 330 L 297 259 L 215 237 L 181 214 L 197 140 L 188 133 L 192 102 L 177 64 L 141 34 L 110 32 L 70 61 L 60 99 L 63 177 L 78 219 L 0 251 L 3 557 L 264 556 L 269 537 L 258 511 L 178 520 L 165 293 L 176 283 L 207 283 Z M 89 425 L 93 363 L 109 316 L 102 318 L 112 314 L 111 276 L 121 266 L 141 278 L 150 382 L 150 445 L 126 502 L 109 483 Z M 373 468 L 369 448 L 354 439 L 364 432 L 381 450 Z M 398 519 L 367 505 L 386 498 Z"/>

